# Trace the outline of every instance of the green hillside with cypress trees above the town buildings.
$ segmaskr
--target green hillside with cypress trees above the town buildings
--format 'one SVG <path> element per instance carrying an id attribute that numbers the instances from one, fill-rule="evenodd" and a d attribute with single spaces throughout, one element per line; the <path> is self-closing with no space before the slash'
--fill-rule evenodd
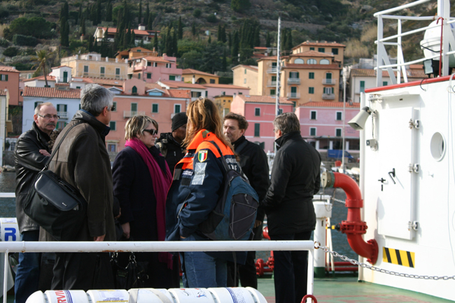
<path id="1" fill-rule="evenodd" d="M 179 67 L 230 71 L 255 64 L 255 46 L 276 46 L 282 20 L 281 50 L 302 41 L 337 41 L 346 47 L 346 62 L 372 57 L 376 19 L 372 15 L 401 1 L 367 0 L 19 0 L 0 4 L 0 62 L 20 70 L 34 69 L 36 53 L 48 52 L 48 69 L 59 59 L 84 52 L 113 57 L 134 45 L 176 56 Z M 435 3 L 409 10 L 434 15 Z M 452 8 L 453 9 L 453 8 Z M 144 24 L 159 31 L 151 43 L 135 44 L 133 29 Z M 391 29 L 396 26 L 391 24 Z M 95 43 L 97 27 L 116 27 L 115 42 Z M 403 30 L 416 27 L 405 22 Z M 423 35 L 423 34 L 422 34 Z M 407 59 L 420 54 L 419 36 L 405 41 Z M 41 74 L 37 71 L 36 75 Z"/>

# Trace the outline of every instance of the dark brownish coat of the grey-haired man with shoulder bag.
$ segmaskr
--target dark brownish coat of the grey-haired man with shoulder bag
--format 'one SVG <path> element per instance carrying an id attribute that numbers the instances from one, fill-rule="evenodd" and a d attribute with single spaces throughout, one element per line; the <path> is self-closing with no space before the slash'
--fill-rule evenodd
<path id="1" fill-rule="evenodd" d="M 76 241 L 93 241 L 104 234 L 104 241 L 115 241 L 111 161 L 104 142 L 109 127 L 89 113 L 77 111 L 57 137 L 55 146 L 69 127 L 78 122 L 82 123 L 65 137 L 49 169 L 78 188 L 87 201 L 87 216 Z M 45 239 L 52 241 L 48 233 Z"/>

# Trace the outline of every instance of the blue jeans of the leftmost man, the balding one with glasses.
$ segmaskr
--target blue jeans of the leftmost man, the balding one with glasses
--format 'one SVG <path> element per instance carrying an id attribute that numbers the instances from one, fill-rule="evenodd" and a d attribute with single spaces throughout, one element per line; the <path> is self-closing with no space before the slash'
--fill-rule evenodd
<path id="1" fill-rule="evenodd" d="M 20 234 L 20 241 L 38 241 L 39 230 Z M 14 281 L 15 303 L 25 303 L 38 290 L 41 253 L 19 253 L 19 264 Z"/>

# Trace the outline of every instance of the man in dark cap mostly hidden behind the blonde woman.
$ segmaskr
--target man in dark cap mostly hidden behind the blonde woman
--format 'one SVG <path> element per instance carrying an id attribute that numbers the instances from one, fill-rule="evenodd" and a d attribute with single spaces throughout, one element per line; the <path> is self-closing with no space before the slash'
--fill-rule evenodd
<path id="1" fill-rule="evenodd" d="M 156 146 L 165 157 L 171 172 L 174 172 L 176 164 L 183 158 L 186 148 L 182 147 L 182 142 L 186 136 L 186 123 L 188 117 L 186 113 L 176 113 L 172 117 L 172 132 L 161 133 L 156 140 Z"/>

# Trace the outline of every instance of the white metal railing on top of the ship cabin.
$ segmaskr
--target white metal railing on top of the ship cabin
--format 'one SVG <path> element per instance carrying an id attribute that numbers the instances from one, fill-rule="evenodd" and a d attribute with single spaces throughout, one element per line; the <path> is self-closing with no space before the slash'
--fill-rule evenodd
<path id="1" fill-rule="evenodd" d="M 432 57 L 426 57 L 422 59 L 416 59 L 412 62 L 405 62 L 403 53 L 401 39 L 403 36 L 408 36 L 411 34 L 416 34 L 421 31 L 426 31 L 427 29 L 433 29 L 435 27 L 442 27 L 442 71 L 441 76 L 447 76 L 449 74 L 449 55 L 455 54 L 455 40 L 451 33 L 451 27 L 447 26 L 455 22 L 454 18 L 450 17 L 450 1 L 449 0 L 437 0 L 437 15 L 430 17 L 409 17 L 409 16 L 398 16 L 398 15 L 387 15 L 389 13 L 395 13 L 399 10 L 405 10 L 412 6 L 418 6 L 419 4 L 426 3 L 430 0 L 419 0 L 412 3 L 407 3 L 396 8 L 391 8 L 388 10 L 382 10 L 381 12 L 375 13 L 374 17 L 377 17 L 377 66 L 374 68 L 377 71 L 387 70 L 388 76 L 391 78 L 392 84 L 400 83 L 401 76 L 403 81 L 407 82 L 406 66 L 411 64 L 416 64 L 423 62 L 426 59 L 439 59 L 440 55 L 434 55 Z M 402 33 L 402 20 L 415 20 L 415 21 L 428 21 L 428 20 L 438 20 L 442 18 L 439 24 L 430 25 L 426 27 L 421 27 L 420 29 L 414 29 L 412 31 L 407 31 Z M 388 36 L 384 38 L 384 19 L 397 20 L 397 34 L 393 36 Z M 393 27 L 390 27 L 393 28 Z M 391 64 L 388 59 L 386 45 L 395 46 L 397 48 L 397 64 Z M 449 51 L 449 45 L 452 51 Z M 383 64 L 384 62 L 384 64 Z M 396 72 L 396 77 L 395 77 Z M 377 86 L 381 86 L 382 83 L 382 73 L 377 72 Z"/>

